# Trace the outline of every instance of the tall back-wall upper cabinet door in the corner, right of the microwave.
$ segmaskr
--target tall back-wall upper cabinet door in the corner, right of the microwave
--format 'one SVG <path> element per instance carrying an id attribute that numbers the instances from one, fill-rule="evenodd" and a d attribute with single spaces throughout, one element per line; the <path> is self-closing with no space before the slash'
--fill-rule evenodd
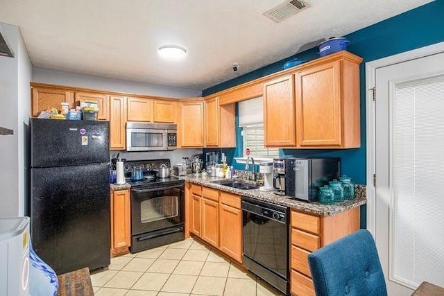
<path id="1" fill-rule="evenodd" d="M 180 140 L 182 147 L 203 147 L 203 101 L 180 103 Z"/>

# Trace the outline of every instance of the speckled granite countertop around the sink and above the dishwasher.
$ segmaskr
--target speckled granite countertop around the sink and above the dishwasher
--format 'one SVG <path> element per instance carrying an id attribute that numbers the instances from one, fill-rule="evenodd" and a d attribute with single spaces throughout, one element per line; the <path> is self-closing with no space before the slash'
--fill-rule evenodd
<path id="1" fill-rule="evenodd" d="M 277 195 L 273 193 L 273 191 L 264 192 L 259 191 L 259 189 L 242 190 L 212 183 L 212 181 L 223 180 L 218 177 L 186 175 L 181 176 L 180 179 L 185 180 L 185 182 L 191 182 L 230 193 L 244 195 L 250 198 L 256 198 L 257 200 L 271 202 L 273 204 L 281 204 L 291 209 L 307 211 L 309 213 L 321 216 L 333 216 L 367 203 L 365 186 L 359 185 L 356 188 L 357 197 L 354 200 L 345 200 L 343 202 L 337 202 L 336 204 L 320 204 L 319 202 L 303 202 L 300 200 L 294 200 L 285 195 Z"/>

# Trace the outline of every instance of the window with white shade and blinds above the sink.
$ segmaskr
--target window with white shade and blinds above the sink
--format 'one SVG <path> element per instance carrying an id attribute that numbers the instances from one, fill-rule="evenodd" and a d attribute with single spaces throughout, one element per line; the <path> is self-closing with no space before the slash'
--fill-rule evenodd
<path id="1" fill-rule="evenodd" d="M 264 147 L 264 104 L 262 96 L 239 102 L 239 126 L 243 134 L 243 158 L 246 158 L 246 148 L 250 156 L 255 158 L 278 157 L 278 148 Z M 239 162 L 241 159 L 237 159 Z"/>

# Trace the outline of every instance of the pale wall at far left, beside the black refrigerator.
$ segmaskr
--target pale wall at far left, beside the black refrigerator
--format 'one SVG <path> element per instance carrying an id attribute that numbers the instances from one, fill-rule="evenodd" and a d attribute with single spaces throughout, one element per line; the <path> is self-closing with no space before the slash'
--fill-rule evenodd
<path id="1" fill-rule="evenodd" d="M 24 134 L 23 121 L 28 121 L 32 75 L 31 60 L 24 48 L 17 26 L 0 23 L 14 58 L 0 56 L 0 126 L 14 131 L 0 136 L 0 216 L 24 214 Z M 23 108 L 23 109 L 21 109 Z"/>

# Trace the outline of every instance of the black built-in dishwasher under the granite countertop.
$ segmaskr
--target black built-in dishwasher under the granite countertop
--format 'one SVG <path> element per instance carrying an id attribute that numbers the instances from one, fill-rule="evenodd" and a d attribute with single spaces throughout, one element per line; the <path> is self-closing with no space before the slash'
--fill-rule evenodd
<path id="1" fill-rule="evenodd" d="M 287 207 L 242 197 L 244 265 L 283 293 L 289 291 Z"/>

